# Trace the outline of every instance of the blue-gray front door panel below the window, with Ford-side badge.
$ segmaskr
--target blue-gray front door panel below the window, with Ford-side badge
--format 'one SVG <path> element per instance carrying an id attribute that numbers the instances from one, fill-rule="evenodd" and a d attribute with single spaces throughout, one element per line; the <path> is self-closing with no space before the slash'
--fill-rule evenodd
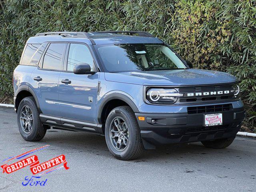
<path id="1" fill-rule="evenodd" d="M 59 84 L 60 114 L 62 117 L 97 122 L 96 101 L 99 76 L 100 73 L 77 75 L 71 72 L 60 72 L 59 82 L 62 79 L 71 80 L 71 84 Z"/>

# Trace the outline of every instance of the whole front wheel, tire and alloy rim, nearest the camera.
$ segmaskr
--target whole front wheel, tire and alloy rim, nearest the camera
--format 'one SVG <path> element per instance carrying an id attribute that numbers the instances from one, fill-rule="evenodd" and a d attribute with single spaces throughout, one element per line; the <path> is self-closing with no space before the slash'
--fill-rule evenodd
<path id="1" fill-rule="evenodd" d="M 116 107 L 110 112 L 106 120 L 105 138 L 110 152 L 120 160 L 136 159 L 143 150 L 140 128 L 128 106 Z"/>

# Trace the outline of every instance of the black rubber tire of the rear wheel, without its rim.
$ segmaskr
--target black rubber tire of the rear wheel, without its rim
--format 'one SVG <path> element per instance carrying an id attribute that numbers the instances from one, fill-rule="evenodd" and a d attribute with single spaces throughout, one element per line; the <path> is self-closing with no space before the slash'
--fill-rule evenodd
<path id="1" fill-rule="evenodd" d="M 28 106 L 32 112 L 32 117 L 33 117 L 33 121 L 32 121 L 32 126 L 31 126 L 31 130 L 29 133 L 26 133 L 23 128 L 22 128 L 22 124 L 21 124 L 21 112 L 24 109 L 24 107 Z M 22 101 L 20 102 L 20 105 L 18 107 L 18 111 L 17 111 L 17 122 L 18 122 L 18 128 L 20 131 L 20 134 L 22 136 L 22 138 L 26 141 L 40 141 L 42 138 L 44 138 L 44 135 L 46 133 L 46 129 L 43 128 L 42 123 L 40 121 L 39 118 L 39 111 L 38 108 L 36 106 L 36 101 L 34 100 L 33 97 L 26 97 L 24 99 L 22 99 Z"/>

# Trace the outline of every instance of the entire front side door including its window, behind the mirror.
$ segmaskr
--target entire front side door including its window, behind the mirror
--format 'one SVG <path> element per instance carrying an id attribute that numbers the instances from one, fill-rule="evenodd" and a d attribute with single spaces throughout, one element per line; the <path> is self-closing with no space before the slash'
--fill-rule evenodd
<path id="1" fill-rule="evenodd" d="M 95 123 L 100 73 L 74 74 L 74 66 L 80 63 L 87 63 L 91 70 L 95 70 L 94 59 L 86 44 L 68 44 L 64 71 L 59 77 L 60 113 L 63 118 Z"/>

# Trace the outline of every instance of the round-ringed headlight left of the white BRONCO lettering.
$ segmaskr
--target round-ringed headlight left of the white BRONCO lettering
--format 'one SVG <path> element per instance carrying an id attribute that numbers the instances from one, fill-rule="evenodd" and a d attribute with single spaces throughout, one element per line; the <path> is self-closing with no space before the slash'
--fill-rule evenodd
<path id="1" fill-rule="evenodd" d="M 150 88 L 146 92 L 147 100 L 154 104 L 173 104 L 179 96 L 183 94 L 173 88 Z"/>

